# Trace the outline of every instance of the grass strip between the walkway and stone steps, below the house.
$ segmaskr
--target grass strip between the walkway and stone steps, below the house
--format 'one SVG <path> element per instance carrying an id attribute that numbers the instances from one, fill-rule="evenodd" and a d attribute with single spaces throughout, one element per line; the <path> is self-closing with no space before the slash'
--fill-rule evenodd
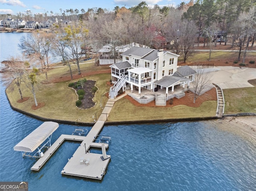
<path id="1" fill-rule="evenodd" d="M 135 106 L 122 98 L 115 102 L 108 121 L 139 121 L 174 118 L 209 117 L 216 114 L 216 101 L 206 101 L 199 107 L 178 105 L 174 107 Z"/>

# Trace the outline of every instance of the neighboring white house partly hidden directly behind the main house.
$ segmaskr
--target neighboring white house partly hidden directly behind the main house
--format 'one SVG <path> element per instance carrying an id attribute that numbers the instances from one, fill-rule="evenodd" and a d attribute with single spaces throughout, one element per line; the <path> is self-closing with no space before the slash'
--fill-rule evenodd
<path id="1" fill-rule="evenodd" d="M 112 44 L 104 45 L 99 51 L 100 65 L 118 63 L 122 61 L 121 54 L 130 49 L 131 47 L 147 47 L 138 43 L 130 43 L 127 45 L 114 46 Z M 115 49 L 115 51 L 114 51 Z"/>

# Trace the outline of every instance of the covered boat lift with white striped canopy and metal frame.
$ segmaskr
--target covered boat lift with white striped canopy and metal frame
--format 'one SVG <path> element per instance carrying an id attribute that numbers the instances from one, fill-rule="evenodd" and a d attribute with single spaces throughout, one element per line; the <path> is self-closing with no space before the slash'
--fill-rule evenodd
<path id="1" fill-rule="evenodd" d="M 24 156 L 34 158 L 43 157 L 44 153 L 42 152 L 42 149 L 49 148 L 51 146 L 52 133 L 58 127 L 59 124 L 56 122 L 44 122 L 34 131 L 32 131 L 28 136 L 26 136 L 23 140 L 21 140 L 18 144 L 16 144 L 16 146 L 14 146 L 14 150 L 22 152 L 23 158 Z M 35 150 L 38 151 L 34 153 Z M 36 156 L 37 154 L 38 156 Z"/>

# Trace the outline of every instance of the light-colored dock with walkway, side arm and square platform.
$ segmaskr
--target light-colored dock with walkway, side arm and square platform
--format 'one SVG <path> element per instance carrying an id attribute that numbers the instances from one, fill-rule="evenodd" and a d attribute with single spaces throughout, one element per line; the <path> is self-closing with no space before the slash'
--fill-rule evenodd
<path id="1" fill-rule="evenodd" d="M 98 121 L 96 121 L 87 136 L 62 134 L 54 142 L 54 144 L 52 144 L 52 146 L 50 146 L 50 148 L 44 152 L 44 156 L 39 158 L 30 169 L 39 171 L 65 140 L 72 140 L 79 141 L 81 144 L 76 152 L 74 152 L 73 156 L 70 159 L 67 159 L 67 164 L 62 169 L 61 174 L 92 179 L 102 179 L 111 156 L 106 155 L 107 158 L 102 160 L 102 154 L 91 153 L 89 150 L 91 147 L 102 148 L 102 144 L 105 148 L 108 148 L 108 143 L 96 143 L 94 140 L 96 136 L 98 136 L 100 130 L 103 128 L 105 121 L 107 120 L 107 117 L 114 105 L 114 101 L 115 100 L 111 99 L 107 102 L 107 105 L 103 109 Z"/>

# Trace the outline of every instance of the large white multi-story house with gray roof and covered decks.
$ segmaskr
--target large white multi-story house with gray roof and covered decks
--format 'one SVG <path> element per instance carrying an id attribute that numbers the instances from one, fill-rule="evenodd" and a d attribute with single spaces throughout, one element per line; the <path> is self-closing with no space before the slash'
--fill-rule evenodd
<path id="1" fill-rule="evenodd" d="M 140 103 L 154 100 L 156 93 L 153 91 L 161 92 L 165 102 L 173 97 L 180 98 L 196 73 L 188 66 L 177 67 L 179 55 L 169 51 L 132 47 L 121 55 L 122 62 L 110 65 L 114 83 L 110 98 L 115 98 L 121 88 Z M 175 93 L 174 89 L 179 91 Z"/>

